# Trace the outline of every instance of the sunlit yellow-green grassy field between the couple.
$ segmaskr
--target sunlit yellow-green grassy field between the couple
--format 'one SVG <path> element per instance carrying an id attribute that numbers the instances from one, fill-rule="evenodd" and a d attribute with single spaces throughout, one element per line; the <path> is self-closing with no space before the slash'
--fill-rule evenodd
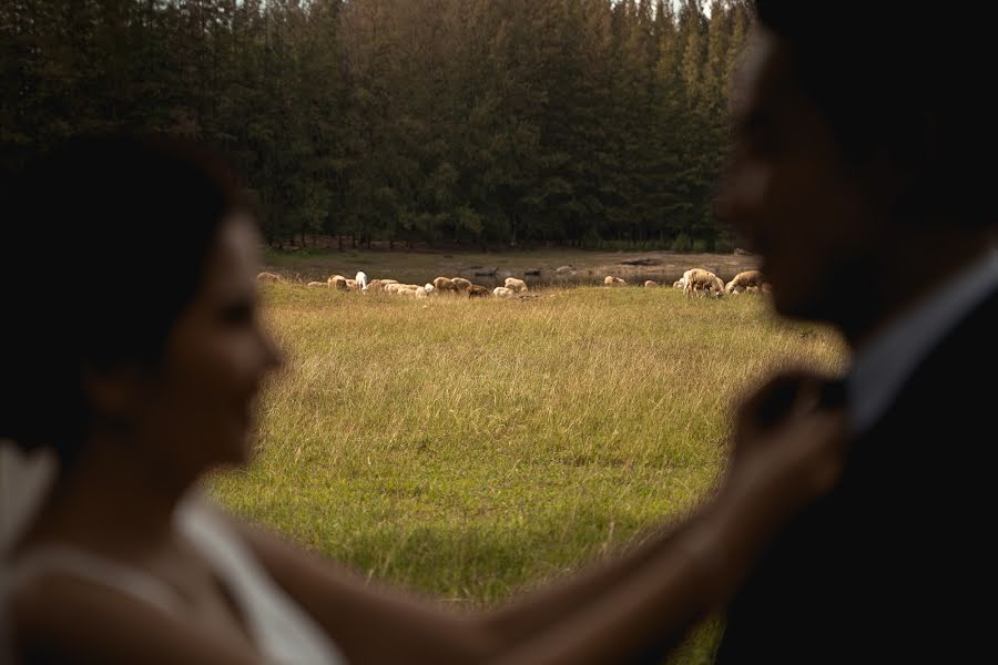
<path id="1" fill-rule="evenodd" d="M 288 352 L 235 511 L 460 607 L 502 602 L 674 520 L 715 484 L 733 400 L 844 367 L 763 297 L 579 287 L 530 301 L 265 287 Z M 707 626 L 675 658 L 705 663 Z"/>

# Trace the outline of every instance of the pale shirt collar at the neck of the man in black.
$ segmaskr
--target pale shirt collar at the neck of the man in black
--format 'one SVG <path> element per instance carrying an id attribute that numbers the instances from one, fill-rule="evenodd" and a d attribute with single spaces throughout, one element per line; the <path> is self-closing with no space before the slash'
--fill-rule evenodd
<path id="1" fill-rule="evenodd" d="M 933 346 L 996 288 L 998 248 L 992 246 L 857 350 L 846 378 L 854 434 L 876 422 Z"/>

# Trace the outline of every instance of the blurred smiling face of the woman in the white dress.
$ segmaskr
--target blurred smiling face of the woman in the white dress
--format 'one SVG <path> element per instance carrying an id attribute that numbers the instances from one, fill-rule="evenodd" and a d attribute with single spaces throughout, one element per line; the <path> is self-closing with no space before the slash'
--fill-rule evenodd
<path id="1" fill-rule="evenodd" d="M 258 316 L 258 236 L 251 219 L 220 226 L 197 294 L 166 340 L 144 391 L 142 439 L 176 471 L 245 462 L 255 397 L 281 355 Z"/>

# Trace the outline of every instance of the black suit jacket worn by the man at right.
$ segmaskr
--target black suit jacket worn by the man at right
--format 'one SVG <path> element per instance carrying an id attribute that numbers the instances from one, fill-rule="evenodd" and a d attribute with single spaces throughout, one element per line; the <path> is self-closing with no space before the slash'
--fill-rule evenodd
<path id="1" fill-rule="evenodd" d="M 919 364 L 729 607 L 729 663 L 978 663 L 998 566 L 998 293 Z"/>

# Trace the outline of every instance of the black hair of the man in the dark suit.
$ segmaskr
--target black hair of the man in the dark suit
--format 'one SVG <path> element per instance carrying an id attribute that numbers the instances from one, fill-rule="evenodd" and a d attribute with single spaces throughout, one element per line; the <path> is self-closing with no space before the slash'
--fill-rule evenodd
<path id="1" fill-rule="evenodd" d="M 899 0 L 847 8 L 756 0 L 758 21 L 790 45 L 802 90 L 854 163 L 886 154 L 900 175 L 898 214 L 992 224 L 988 163 L 998 146 L 990 101 L 992 22 L 977 8 Z"/>

